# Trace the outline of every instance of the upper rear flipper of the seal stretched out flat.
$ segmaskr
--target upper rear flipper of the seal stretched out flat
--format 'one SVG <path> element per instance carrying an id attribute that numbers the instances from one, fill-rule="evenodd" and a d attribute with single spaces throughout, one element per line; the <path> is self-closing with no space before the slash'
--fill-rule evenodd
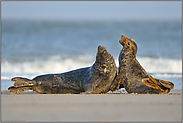
<path id="1" fill-rule="evenodd" d="M 36 84 L 36 81 L 22 77 L 14 77 L 11 81 L 15 81 L 14 87 L 33 86 Z"/>

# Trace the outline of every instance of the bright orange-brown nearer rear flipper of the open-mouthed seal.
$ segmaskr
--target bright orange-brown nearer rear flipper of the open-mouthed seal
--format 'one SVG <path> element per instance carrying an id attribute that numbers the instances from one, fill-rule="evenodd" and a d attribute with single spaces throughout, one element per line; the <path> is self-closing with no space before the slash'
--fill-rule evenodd
<path id="1" fill-rule="evenodd" d="M 164 87 L 163 85 L 159 85 L 157 83 L 157 81 L 150 75 L 149 75 L 149 78 L 142 79 L 142 82 L 148 87 L 156 88 L 156 89 L 161 90 L 163 92 L 167 90 L 166 87 Z"/>

